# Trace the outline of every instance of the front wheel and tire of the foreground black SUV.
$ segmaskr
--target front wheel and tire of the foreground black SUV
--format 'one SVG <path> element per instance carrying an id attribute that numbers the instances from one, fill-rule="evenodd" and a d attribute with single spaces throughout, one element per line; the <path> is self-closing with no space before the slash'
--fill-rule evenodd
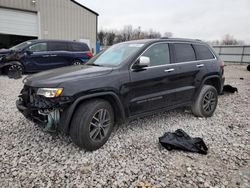
<path id="1" fill-rule="evenodd" d="M 107 142 L 113 126 L 114 111 L 109 102 L 102 99 L 87 101 L 73 115 L 70 137 L 80 148 L 97 150 Z"/>

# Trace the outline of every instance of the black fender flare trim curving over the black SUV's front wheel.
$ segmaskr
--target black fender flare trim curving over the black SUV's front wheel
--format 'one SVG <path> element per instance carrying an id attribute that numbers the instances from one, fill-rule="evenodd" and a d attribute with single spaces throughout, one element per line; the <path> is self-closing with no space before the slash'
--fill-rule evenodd
<path id="1" fill-rule="evenodd" d="M 119 113 L 121 115 L 121 119 L 122 121 L 124 121 L 125 120 L 124 107 L 120 98 L 117 96 L 117 94 L 115 94 L 114 92 L 100 92 L 100 93 L 94 93 L 94 94 L 81 96 L 77 98 L 70 106 L 66 107 L 60 119 L 59 129 L 62 130 L 64 133 L 68 134 L 70 130 L 70 123 L 71 123 L 71 120 L 73 118 L 73 115 L 77 106 L 86 99 L 98 98 L 98 97 L 103 97 L 103 96 L 113 97 L 113 99 L 116 102 Z"/>

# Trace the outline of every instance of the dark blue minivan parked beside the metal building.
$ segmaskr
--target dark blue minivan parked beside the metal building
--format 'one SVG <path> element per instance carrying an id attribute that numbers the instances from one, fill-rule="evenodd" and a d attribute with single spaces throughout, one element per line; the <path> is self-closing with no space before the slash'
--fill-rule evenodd
<path id="1" fill-rule="evenodd" d="M 39 72 L 68 65 L 86 63 L 92 53 L 85 43 L 61 40 L 30 40 L 9 50 L 0 50 L 0 69 Z"/>

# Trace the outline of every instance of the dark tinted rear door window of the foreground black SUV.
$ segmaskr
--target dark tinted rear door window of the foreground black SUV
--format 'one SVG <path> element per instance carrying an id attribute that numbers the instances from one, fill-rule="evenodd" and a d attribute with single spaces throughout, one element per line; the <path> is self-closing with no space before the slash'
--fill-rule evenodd
<path id="1" fill-rule="evenodd" d="M 174 44 L 176 62 L 195 61 L 195 53 L 191 44 Z"/>

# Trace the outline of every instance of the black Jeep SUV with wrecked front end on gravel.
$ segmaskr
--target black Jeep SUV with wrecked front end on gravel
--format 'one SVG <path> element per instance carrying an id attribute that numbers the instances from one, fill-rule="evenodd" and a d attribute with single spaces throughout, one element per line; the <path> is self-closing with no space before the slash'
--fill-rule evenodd
<path id="1" fill-rule="evenodd" d="M 96 150 L 125 119 L 181 106 L 191 106 L 196 116 L 212 116 L 223 67 L 200 40 L 124 42 L 85 65 L 27 77 L 16 105 L 45 130 L 62 130 L 78 146 Z"/>

